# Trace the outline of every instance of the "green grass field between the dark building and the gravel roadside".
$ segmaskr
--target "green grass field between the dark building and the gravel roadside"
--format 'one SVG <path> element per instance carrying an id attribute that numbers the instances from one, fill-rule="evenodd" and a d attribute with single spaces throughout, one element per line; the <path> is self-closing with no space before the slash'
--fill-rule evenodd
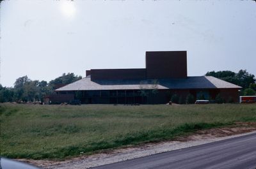
<path id="1" fill-rule="evenodd" d="M 0 105 L 1 156 L 64 159 L 256 121 L 256 104 Z"/>

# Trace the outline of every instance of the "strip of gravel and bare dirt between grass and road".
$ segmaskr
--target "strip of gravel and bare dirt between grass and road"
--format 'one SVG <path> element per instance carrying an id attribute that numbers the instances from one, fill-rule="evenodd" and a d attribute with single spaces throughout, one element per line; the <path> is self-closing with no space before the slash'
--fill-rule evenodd
<path id="1" fill-rule="evenodd" d="M 145 143 L 130 145 L 120 149 L 111 149 L 91 156 L 81 156 L 65 161 L 19 159 L 42 168 L 74 169 L 92 168 L 93 166 L 107 165 L 128 159 L 141 158 L 161 152 L 168 152 L 204 143 L 216 142 L 237 136 L 256 133 L 256 122 L 236 122 L 235 126 L 224 128 L 204 129 L 195 133 L 175 138 L 166 142 Z"/>

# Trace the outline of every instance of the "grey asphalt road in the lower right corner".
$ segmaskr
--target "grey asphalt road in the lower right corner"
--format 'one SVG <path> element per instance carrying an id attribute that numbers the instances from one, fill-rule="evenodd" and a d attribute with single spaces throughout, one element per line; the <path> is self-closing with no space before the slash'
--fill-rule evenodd
<path id="1" fill-rule="evenodd" d="M 256 168 L 256 133 L 164 152 L 144 158 L 121 161 L 94 169 L 142 168 Z"/>

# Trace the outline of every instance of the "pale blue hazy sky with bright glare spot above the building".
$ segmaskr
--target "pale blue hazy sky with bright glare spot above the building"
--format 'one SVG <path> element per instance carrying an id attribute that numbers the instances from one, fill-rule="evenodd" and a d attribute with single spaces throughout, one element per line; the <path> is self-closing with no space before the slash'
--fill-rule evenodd
<path id="1" fill-rule="evenodd" d="M 256 75 L 255 1 L 2 1 L 0 84 L 101 68 L 145 68 L 146 51 L 187 50 L 188 75 Z M 179 70 L 177 70 L 179 71 Z"/>

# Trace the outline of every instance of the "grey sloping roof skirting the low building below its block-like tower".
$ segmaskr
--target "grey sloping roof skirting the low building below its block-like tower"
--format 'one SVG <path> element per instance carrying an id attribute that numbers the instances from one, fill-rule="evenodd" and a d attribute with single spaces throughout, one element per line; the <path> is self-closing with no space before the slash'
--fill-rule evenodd
<path id="1" fill-rule="evenodd" d="M 55 91 L 94 91 L 94 90 L 129 90 L 152 89 L 156 80 L 94 80 L 82 78 Z M 157 89 L 227 89 L 242 88 L 215 77 L 188 77 L 157 80 Z"/>

